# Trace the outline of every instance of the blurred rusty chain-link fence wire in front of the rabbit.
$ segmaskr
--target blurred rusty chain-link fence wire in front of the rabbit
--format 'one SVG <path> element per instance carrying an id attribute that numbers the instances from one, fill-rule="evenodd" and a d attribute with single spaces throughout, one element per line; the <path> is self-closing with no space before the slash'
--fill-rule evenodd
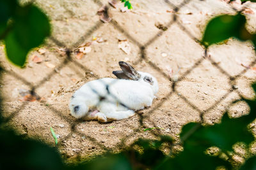
<path id="1" fill-rule="evenodd" d="M 173 11 L 175 11 L 174 13 L 170 14 L 170 21 L 166 25 L 167 29 L 169 29 L 173 24 L 176 23 L 180 27 L 180 29 L 182 31 L 184 31 L 184 34 L 188 34 L 188 36 L 191 39 L 193 39 L 196 43 L 198 43 L 200 46 L 202 46 L 202 48 L 204 48 L 205 52 L 204 52 L 204 56 L 200 57 L 200 59 L 198 59 L 195 62 L 195 64 L 193 64 L 192 67 L 190 67 L 185 73 L 183 73 L 179 76 L 178 80 L 172 80 L 172 78 L 170 78 L 170 76 L 168 76 L 166 73 L 164 73 L 164 71 L 160 67 L 158 67 L 154 62 L 152 62 L 150 59 L 148 59 L 148 55 L 147 55 L 147 48 L 149 48 L 148 46 L 151 45 L 157 39 L 159 39 L 161 36 L 163 36 L 164 31 L 161 30 L 161 31 L 157 32 L 157 34 L 155 36 L 153 36 L 152 38 L 150 38 L 146 43 L 141 44 L 139 41 L 137 41 L 137 39 L 135 37 L 131 36 L 131 34 L 129 34 L 129 32 L 125 31 L 125 29 L 121 25 L 119 25 L 118 22 L 116 22 L 112 18 L 112 20 L 108 24 L 113 25 L 113 27 L 115 27 L 116 30 L 123 33 L 127 37 L 127 39 L 132 41 L 132 43 L 134 43 L 134 45 L 136 45 L 136 46 L 138 46 L 138 48 L 140 48 L 140 54 L 141 55 L 140 55 L 140 57 L 138 57 L 138 59 L 136 59 L 136 61 L 133 62 L 134 63 L 133 65 L 136 66 L 137 64 L 140 64 L 141 62 L 145 61 L 145 62 L 147 62 L 147 64 L 149 66 L 151 66 L 155 71 L 157 71 L 159 74 L 161 74 L 166 80 L 170 81 L 170 83 L 172 84 L 172 92 L 170 92 L 169 94 L 164 96 L 163 101 L 158 103 L 156 106 L 150 108 L 147 115 L 138 114 L 138 116 L 140 117 L 139 118 L 140 126 L 147 127 L 147 126 L 144 125 L 144 119 L 147 118 L 148 115 L 150 115 L 150 113 L 154 113 L 154 111 L 156 111 L 157 108 L 161 107 L 164 103 L 168 102 L 168 99 L 170 99 L 170 97 L 173 96 L 173 95 L 179 95 L 179 97 L 186 104 L 188 104 L 188 106 L 190 106 L 191 108 L 193 108 L 193 110 L 198 112 L 199 115 L 200 115 L 200 122 L 204 123 L 204 115 L 206 113 L 208 113 L 209 111 L 211 111 L 216 106 L 218 106 L 218 104 L 220 104 L 221 101 L 225 100 L 229 94 L 231 94 L 232 92 L 237 92 L 237 94 L 241 97 L 241 92 L 239 92 L 239 90 L 237 88 L 235 88 L 236 80 L 237 80 L 237 78 L 242 76 L 248 70 L 248 68 L 244 68 L 243 71 L 241 71 L 239 74 L 236 74 L 235 76 L 231 76 L 230 74 L 227 73 L 227 71 L 225 71 L 225 69 L 223 69 L 213 59 L 211 59 L 210 57 L 207 57 L 208 49 L 205 48 L 204 45 L 202 44 L 202 42 L 199 39 L 195 38 L 195 36 L 193 36 L 193 34 L 191 32 L 189 32 L 188 29 L 186 29 L 186 27 L 179 22 L 179 20 L 178 20 L 179 15 L 177 15 L 177 12 L 182 7 L 186 6 L 186 4 L 189 4 L 189 3 L 191 3 L 191 1 L 195 1 L 195 0 L 184 0 L 182 3 L 180 3 L 177 6 L 175 4 L 173 4 L 172 1 L 168 1 L 168 0 L 163 0 L 163 1 Z M 204 1 L 204 0 L 201 0 L 201 1 Z M 104 11 L 104 17 L 109 17 L 109 15 L 108 15 L 109 10 L 108 9 L 113 8 L 113 7 L 111 7 L 109 4 L 103 4 L 102 2 L 97 1 L 97 0 L 92 0 L 92 3 L 97 4 L 99 6 L 99 8 L 101 8 L 103 5 L 106 6 L 105 11 Z M 234 11 L 236 11 L 236 13 L 239 13 L 239 12 L 244 10 L 244 8 L 243 8 L 242 10 L 238 11 L 233 7 L 232 7 L 232 9 Z M 51 39 L 51 41 L 55 45 L 57 45 L 60 48 L 65 48 L 65 59 L 63 60 L 63 62 L 61 62 L 61 64 L 56 66 L 56 69 L 58 69 L 60 71 L 63 67 L 68 66 L 68 63 L 72 62 L 73 64 L 75 64 L 77 67 L 83 69 L 84 71 L 90 71 L 90 69 L 88 69 L 88 67 L 84 66 L 83 64 L 80 64 L 76 60 L 72 60 L 71 54 L 72 54 L 72 52 L 74 52 L 74 50 L 76 50 L 77 46 L 84 43 L 84 41 L 86 41 L 87 38 L 92 36 L 93 32 L 97 31 L 103 24 L 104 23 L 99 20 L 98 22 L 95 23 L 95 25 L 93 27 L 90 27 L 90 29 L 88 29 L 88 31 L 84 33 L 84 36 L 81 36 L 81 38 L 76 43 L 74 43 L 73 45 L 70 45 L 70 46 L 65 45 L 65 43 L 63 43 L 61 41 L 58 41 L 58 39 L 54 38 L 54 36 L 51 36 L 49 39 Z M 218 69 L 220 71 L 220 73 L 225 74 L 225 76 L 227 76 L 228 83 L 230 85 L 231 90 L 229 90 L 226 94 L 224 94 L 222 97 L 220 97 L 220 99 L 218 101 L 216 101 L 214 104 L 212 104 L 211 106 L 209 106 L 209 108 L 205 108 L 204 110 L 201 110 L 200 108 L 195 106 L 195 104 L 193 104 L 192 101 L 189 101 L 189 99 L 187 99 L 186 96 L 182 95 L 179 92 L 179 90 L 177 89 L 177 85 L 179 84 L 180 81 L 184 80 L 184 78 L 186 78 L 186 76 L 189 73 L 191 73 L 191 71 L 193 71 L 196 67 L 198 67 L 204 60 L 209 60 L 212 64 L 212 66 L 216 67 L 216 69 Z M 253 60 L 253 62 L 250 63 L 250 66 L 253 66 L 253 64 L 255 64 L 255 63 L 256 63 L 256 60 Z M 72 67 L 71 69 L 76 69 L 76 67 Z M 48 81 L 52 76 L 54 76 L 54 74 L 57 73 L 56 71 L 52 70 L 51 73 L 47 74 L 47 76 L 45 76 L 42 80 L 40 80 L 40 81 L 38 81 L 34 84 L 34 83 L 29 82 L 28 80 L 26 80 L 25 78 L 23 78 L 22 76 L 20 76 L 19 74 L 15 73 L 13 71 L 8 71 L 6 69 L 4 69 L 3 71 L 6 74 L 9 74 L 10 76 L 13 76 L 13 78 L 16 78 L 17 80 L 22 81 L 22 83 L 24 83 L 25 85 L 28 85 L 30 90 L 31 90 L 30 91 L 31 95 L 35 94 L 36 89 L 38 89 L 39 87 L 42 87 L 42 85 L 44 85 L 44 83 L 46 81 Z M 77 72 L 79 72 L 79 71 L 77 71 Z M 93 74 L 93 76 L 94 76 L 95 79 L 100 77 L 100 76 L 97 76 L 95 74 Z M 113 94 L 109 94 L 109 95 L 113 96 Z M 10 122 L 14 117 L 16 117 L 20 113 L 20 111 L 24 110 L 26 104 L 28 104 L 28 102 L 22 103 L 20 105 L 20 107 L 17 108 L 17 110 L 13 111 L 13 113 L 10 115 L 10 117 L 4 118 L 4 122 L 6 122 L 6 123 Z M 123 103 L 123 105 L 125 106 L 124 103 Z M 45 107 L 45 109 L 52 110 L 58 117 L 61 117 L 61 118 L 65 119 L 68 122 L 68 124 L 70 124 L 70 129 L 71 129 L 70 133 L 67 136 L 65 136 L 61 141 L 68 140 L 69 138 L 72 137 L 72 134 L 77 134 L 79 136 L 85 136 L 86 139 L 89 139 L 95 145 L 99 146 L 103 150 L 112 151 L 113 148 L 122 149 L 124 147 L 125 141 L 127 141 L 127 139 L 129 139 L 130 136 L 132 136 L 136 132 L 140 131 L 140 127 L 138 127 L 137 129 L 134 129 L 133 133 L 129 134 L 128 136 L 125 136 L 125 138 L 122 138 L 121 142 L 119 142 L 116 146 L 114 146 L 113 148 L 108 148 L 107 146 L 104 146 L 102 143 L 98 142 L 97 139 L 93 138 L 92 136 L 88 136 L 86 134 L 83 134 L 83 133 L 77 131 L 76 126 L 78 124 L 80 124 L 82 120 L 72 121 L 72 120 L 70 120 L 69 117 L 63 115 L 63 113 L 61 113 L 61 111 L 56 110 L 56 108 L 52 107 L 51 105 L 47 106 L 47 108 L 46 108 L 46 106 L 44 106 L 44 107 Z M 129 108 L 128 106 L 126 106 L 126 107 Z M 225 108 L 225 109 L 227 111 L 228 108 Z M 156 127 L 156 124 L 154 122 L 150 122 L 150 123 Z M 156 137 L 162 135 L 161 131 L 159 131 L 159 129 L 156 129 L 156 131 L 149 131 L 149 132 L 151 134 L 153 134 L 154 136 L 156 136 Z M 61 146 L 61 143 L 58 146 Z"/>

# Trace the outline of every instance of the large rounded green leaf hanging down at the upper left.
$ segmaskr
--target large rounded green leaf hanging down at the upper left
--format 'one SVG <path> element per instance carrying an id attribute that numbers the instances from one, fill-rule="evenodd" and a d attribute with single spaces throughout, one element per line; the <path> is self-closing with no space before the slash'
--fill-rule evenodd
<path id="1" fill-rule="evenodd" d="M 39 8 L 29 4 L 19 7 L 13 16 L 13 29 L 4 39 L 8 59 L 17 66 L 24 66 L 31 50 L 50 35 L 49 19 Z"/>

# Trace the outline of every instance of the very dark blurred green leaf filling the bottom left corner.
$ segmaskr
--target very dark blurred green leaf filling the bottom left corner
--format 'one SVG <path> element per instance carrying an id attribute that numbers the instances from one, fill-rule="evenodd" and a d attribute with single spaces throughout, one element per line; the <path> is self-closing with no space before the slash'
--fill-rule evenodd
<path id="1" fill-rule="evenodd" d="M 0 129 L 0 169 L 63 169 L 56 148 Z"/>

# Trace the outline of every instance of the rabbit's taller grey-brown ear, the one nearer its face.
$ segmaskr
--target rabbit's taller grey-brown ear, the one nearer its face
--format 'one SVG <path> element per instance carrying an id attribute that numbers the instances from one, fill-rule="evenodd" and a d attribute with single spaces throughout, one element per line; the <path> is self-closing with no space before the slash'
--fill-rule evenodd
<path id="1" fill-rule="evenodd" d="M 132 80 L 139 80 L 140 73 L 138 73 L 130 64 L 120 61 L 118 62 L 119 66 L 121 67 L 124 74 Z"/>

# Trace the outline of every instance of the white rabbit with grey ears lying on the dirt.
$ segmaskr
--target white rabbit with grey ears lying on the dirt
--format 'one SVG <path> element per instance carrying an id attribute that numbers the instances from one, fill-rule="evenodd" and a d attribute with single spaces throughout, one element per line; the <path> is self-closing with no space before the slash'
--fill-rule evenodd
<path id="1" fill-rule="evenodd" d="M 74 93 L 69 104 L 73 117 L 109 122 L 132 117 L 134 111 L 151 106 L 158 92 L 156 78 L 126 62 L 118 63 L 122 71 L 113 71 L 118 79 L 89 81 Z"/>

